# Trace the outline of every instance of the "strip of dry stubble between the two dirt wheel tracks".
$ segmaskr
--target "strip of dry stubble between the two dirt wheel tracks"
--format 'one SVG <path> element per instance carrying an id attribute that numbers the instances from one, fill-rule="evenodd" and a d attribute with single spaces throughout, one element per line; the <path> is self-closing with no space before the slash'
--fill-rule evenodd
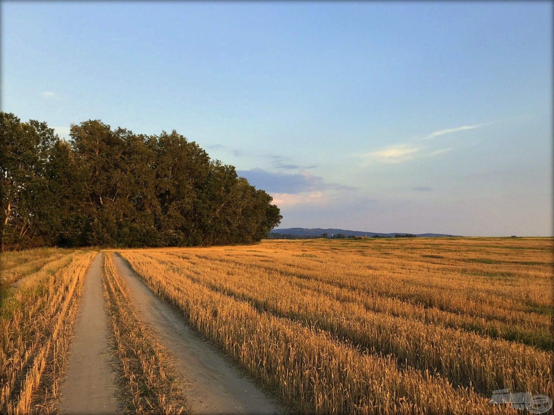
<path id="1" fill-rule="evenodd" d="M 118 357 L 118 373 L 125 410 L 136 414 L 187 412 L 178 387 L 177 372 L 165 348 L 134 312 L 128 289 L 112 262 L 104 255 L 102 284 L 111 319 L 112 347 Z"/>

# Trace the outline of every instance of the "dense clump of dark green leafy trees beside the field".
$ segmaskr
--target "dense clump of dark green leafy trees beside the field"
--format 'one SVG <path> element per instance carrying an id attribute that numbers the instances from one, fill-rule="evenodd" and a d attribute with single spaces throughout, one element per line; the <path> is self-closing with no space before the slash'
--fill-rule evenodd
<path id="1" fill-rule="evenodd" d="M 42 246 L 251 243 L 282 216 L 273 199 L 176 131 L 47 123 L 0 112 L 2 251 Z"/>

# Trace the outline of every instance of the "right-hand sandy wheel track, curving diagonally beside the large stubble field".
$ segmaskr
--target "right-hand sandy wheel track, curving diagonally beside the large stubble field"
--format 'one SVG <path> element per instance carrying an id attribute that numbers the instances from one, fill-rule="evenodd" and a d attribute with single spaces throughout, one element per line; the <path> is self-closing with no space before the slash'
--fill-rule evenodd
<path id="1" fill-rule="evenodd" d="M 199 339 L 176 310 L 156 297 L 117 254 L 114 254 L 114 264 L 129 287 L 139 317 L 178 359 L 177 370 L 191 382 L 187 398 L 194 413 L 281 413 L 252 381 L 239 375 L 217 351 Z"/>

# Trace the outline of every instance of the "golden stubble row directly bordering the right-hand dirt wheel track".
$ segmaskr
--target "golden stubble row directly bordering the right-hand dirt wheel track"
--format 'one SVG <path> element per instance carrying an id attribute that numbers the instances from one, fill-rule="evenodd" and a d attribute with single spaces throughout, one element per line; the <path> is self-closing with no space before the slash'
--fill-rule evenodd
<path id="1" fill-rule="evenodd" d="M 483 413 L 505 410 L 490 406 L 488 399 L 473 388 L 453 387 L 446 376 L 410 365 L 399 367 L 394 356 L 361 352 L 338 341 L 327 330 L 307 326 L 208 288 L 189 278 L 183 264 L 156 258 L 166 255 L 163 251 L 120 253 L 148 287 L 181 308 L 194 328 L 216 341 L 297 411 Z M 188 255 L 194 250 L 182 252 Z M 197 259 L 190 267 L 202 274 L 204 265 Z M 209 272 L 214 271 L 209 269 Z M 221 278 L 227 277 L 224 271 Z"/>

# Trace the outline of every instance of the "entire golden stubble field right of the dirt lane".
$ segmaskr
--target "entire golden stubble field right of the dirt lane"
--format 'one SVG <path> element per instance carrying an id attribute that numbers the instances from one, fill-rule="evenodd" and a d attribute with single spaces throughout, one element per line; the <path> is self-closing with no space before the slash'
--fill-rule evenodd
<path id="1" fill-rule="evenodd" d="M 490 411 L 553 396 L 551 238 L 264 241 L 120 251 L 297 411 Z M 377 409 L 378 408 L 378 409 Z"/>

